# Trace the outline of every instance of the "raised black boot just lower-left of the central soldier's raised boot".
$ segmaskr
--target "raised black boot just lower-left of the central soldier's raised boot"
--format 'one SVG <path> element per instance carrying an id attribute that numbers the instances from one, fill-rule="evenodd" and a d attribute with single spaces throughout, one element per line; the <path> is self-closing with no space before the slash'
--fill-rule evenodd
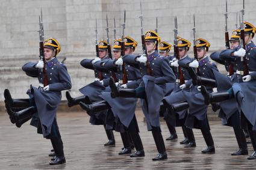
<path id="1" fill-rule="evenodd" d="M 104 111 L 106 109 L 110 109 L 110 105 L 108 105 L 108 103 L 105 100 L 101 100 L 99 102 L 92 103 L 91 105 L 86 105 L 83 102 L 80 102 L 79 105 L 85 111 L 90 112 L 90 113 L 96 113 L 96 112 Z"/>

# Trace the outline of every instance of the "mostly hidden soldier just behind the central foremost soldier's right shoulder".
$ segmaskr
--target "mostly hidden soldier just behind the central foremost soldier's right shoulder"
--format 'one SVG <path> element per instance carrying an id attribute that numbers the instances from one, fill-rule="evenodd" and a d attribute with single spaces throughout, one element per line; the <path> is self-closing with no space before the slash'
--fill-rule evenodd
<path id="1" fill-rule="evenodd" d="M 167 43 L 166 41 L 160 41 L 159 46 L 158 46 L 159 54 L 161 56 L 164 56 L 167 59 L 168 62 L 172 61 L 172 59 L 175 58 L 175 56 L 169 55 L 171 47 L 172 47 L 172 45 Z M 172 71 L 173 71 L 173 73 L 175 72 L 175 70 L 172 70 Z M 172 93 L 174 86 L 175 86 L 175 83 L 166 83 L 166 94 L 165 94 L 165 96 L 169 96 L 169 94 Z M 160 115 L 164 116 L 166 114 L 168 114 L 167 110 L 166 110 L 166 108 L 164 108 L 163 104 L 161 104 Z M 166 139 L 166 141 L 172 141 L 174 139 L 178 139 L 178 136 L 176 134 L 175 126 L 170 124 L 170 122 L 167 121 L 167 120 L 166 120 L 166 124 L 167 124 L 167 127 L 168 127 L 169 132 L 170 132 L 170 136 L 169 136 L 169 138 Z"/>

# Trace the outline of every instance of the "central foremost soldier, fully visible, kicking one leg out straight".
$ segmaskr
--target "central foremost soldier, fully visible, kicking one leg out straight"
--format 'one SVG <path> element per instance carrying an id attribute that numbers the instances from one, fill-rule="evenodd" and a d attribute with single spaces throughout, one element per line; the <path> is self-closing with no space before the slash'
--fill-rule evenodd
<path id="1" fill-rule="evenodd" d="M 148 56 L 125 55 L 123 61 L 139 68 L 142 74 L 142 83 L 138 88 L 118 88 L 113 80 L 110 81 L 111 97 L 131 97 L 142 99 L 142 110 L 146 118 L 147 127 L 152 131 L 158 154 L 152 160 L 167 159 L 163 136 L 161 135 L 159 110 L 164 97 L 165 83 L 174 82 L 175 76 L 167 61 L 157 52 L 160 37 L 155 31 L 146 31 L 145 46 Z"/>

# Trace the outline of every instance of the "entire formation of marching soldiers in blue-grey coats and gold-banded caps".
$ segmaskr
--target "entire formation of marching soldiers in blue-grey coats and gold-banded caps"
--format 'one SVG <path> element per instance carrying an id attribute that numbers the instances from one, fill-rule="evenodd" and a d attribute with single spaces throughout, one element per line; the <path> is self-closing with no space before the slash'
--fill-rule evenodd
<path id="1" fill-rule="evenodd" d="M 236 155 L 247 155 L 245 133 L 248 130 L 254 153 L 248 159 L 256 159 L 254 87 L 256 47 L 252 42 L 256 28 L 249 22 L 245 24 L 245 49 L 240 46 L 241 30 L 236 29 L 230 38 L 231 48 L 211 53 L 210 57 L 233 74 L 225 76 L 217 70 L 207 56 L 210 43 L 203 38 L 196 40 L 198 60 L 189 58 L 187 52 L 191 43 L 177 37 L 178 56 L 169 56 L 170 44 L 160 41 L 155 31 L 146 31 L 145 45 L 148 55 L 134 55 L 137 41 L 130 36 L 122 52 L 122 40 L 114 40 L 113 59 L 109 58 L 108 43 L 100 41 L 99 55 L 95 59 L 83 59 L 81 65 L 95 71 L 96 80 L 80 89 L 83 96 L 71 97 L 66 92 L 68 106 L 80 105 L 90 115 L 90 123 L 103 125 L 109 141 L 105 146 L 115 144 L 113 130 L 120 132 L 123 148 L 119 154 L 130 157 L 145 156 L 143 142 L 139 135 L 135 110 L 140 99 L 147 128 L 157 147 L 158 154 L 153 160 L 167 159 L 166 148 L 160 129 L 160 112 L 163 112 L 170 133 L 175 139 L 175 127 L 181 126 L 185 136 L 181 144 L 196 147 L 192 129 L 200 129 L 207 148 L 202 153 L 215 153 L 213 138 L 207 120 L 207 108 L 211 103 L 214 111 L 219 109 L 223 125 L 232 126 L 239 150 Z M 66 162 L 63 142 L 56 121 L 57 105 L 62 90 L 69 90 L 71 82 L 66 66 L 58 62 L 56 55 L 60 44 L 49 38 L 44 44 L 46 64 L 42 60 L 28 62 L 22 69 L 28 76 L 39 79 L 39 88 L 31 87 L 27 92 L 29 99 L 12 99 L 5 90 L 5 106 L 11 123 L 20 127 L 30 120 L 39 133 L 51 139 L 55 156 L 50 162 L 56 165 Z M 121 55 L 123 53 L 123 55 Z M 241 61 L 241 58 L 244 60 Z M 248 73 L 245 74 L 246 61 Z M 124 66 L 124 67 L 123 67 Z M 44 86 L 42 68 L 46 67 L 49 85 Z M 150 68 L 150 70 L 148 69 Z M 126 75 L 124 75 L 124 73 Z M 123 77 L 126 76 L 126 82 Z M 216 87 L 218 93 L 212 93 Z"/>

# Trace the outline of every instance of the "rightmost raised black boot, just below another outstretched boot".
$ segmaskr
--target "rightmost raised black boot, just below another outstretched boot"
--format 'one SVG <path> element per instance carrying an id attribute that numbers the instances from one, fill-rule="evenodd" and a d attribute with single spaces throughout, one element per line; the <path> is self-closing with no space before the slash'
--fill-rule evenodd
<path id="1" fill-rule="evenodd" d="M 228 91 L 220 92 L 220 93 L 208 93 L 204 86 L 201 86 L 201 93 L 204 96 L 205 105 L 209 105 L 210 103 L 219 103 L 228 99 L 231 99 Z"/>

